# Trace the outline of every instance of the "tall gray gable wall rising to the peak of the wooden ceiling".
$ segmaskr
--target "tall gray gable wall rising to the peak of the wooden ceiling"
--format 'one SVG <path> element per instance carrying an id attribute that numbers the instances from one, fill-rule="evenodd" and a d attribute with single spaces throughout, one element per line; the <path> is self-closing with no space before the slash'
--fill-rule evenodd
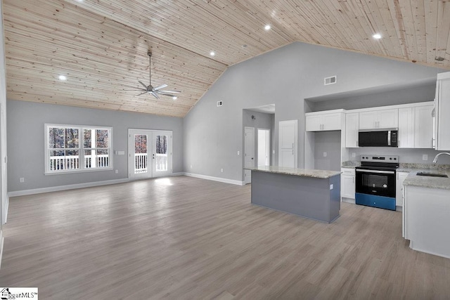
<path id="1" fill-rule="evenodd" d="M 305 98 L 435 80 L 437 72 L 432 67 L 303 43 L 233 65 L 184 118 L 185 170 L 241 181 L 243 159 L 237 152 L 243 150 L 243 108 L 272 103 L 276 105 L 276 145 L 278 122 L 299 120 L 298 167 L 303 167 Z M 323 78 L 333 75 L 338 77 L 337 84 L 323 86 Z M 217 107 L 218 100 L 224 106 Z M 278 153 L 275 157 L 277 165 Z"/>

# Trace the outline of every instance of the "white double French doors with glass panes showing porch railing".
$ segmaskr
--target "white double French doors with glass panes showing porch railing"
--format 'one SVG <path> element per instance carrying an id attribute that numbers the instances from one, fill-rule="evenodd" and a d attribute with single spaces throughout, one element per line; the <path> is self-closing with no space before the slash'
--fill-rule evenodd
<path id="1" fill-rule="evenodd" d="M 172 131 L 128 130 L 131 180 L 172 174 Z"/>

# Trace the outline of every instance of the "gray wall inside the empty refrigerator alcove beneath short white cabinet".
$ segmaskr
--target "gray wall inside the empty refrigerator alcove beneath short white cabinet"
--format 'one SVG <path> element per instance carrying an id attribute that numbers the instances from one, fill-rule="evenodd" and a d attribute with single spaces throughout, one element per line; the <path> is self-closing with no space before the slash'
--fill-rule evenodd
<path id="1" fill-rule="evenodd" d="M 314 169 L 340 171 L 340 149 L 340 131 L 315 132 Z"/>

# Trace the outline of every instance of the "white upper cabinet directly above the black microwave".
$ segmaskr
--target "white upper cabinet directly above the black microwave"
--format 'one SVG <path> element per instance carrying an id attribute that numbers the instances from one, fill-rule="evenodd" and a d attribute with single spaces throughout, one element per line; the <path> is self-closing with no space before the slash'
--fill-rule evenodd
<path id="1" fill-rule="evenodd" d="M 359 129 L 390 129 L 399 126 L 399 110 L 359 112 Z"/>

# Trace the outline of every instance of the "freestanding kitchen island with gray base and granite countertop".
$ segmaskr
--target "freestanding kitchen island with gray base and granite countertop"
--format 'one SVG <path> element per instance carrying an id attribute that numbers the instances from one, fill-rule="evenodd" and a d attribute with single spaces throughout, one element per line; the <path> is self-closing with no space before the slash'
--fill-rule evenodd
<path id="1" fill-rule="evenodd" d="M 326 223 L 338 219 L 340 171 L 248 169 L 252 170 L 252 204 Z"/>

